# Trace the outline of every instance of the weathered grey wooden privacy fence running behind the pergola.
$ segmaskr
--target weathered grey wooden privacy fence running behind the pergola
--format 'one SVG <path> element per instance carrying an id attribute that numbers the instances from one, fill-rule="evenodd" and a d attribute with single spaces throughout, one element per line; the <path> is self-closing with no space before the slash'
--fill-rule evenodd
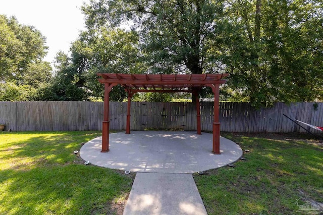
<path id="1" fill-rule="evenodd" d="M 254 109 L 249 103 L 220 102 L 221 131 L 305 132 L 283 116 L 323 126 L 323 103 L 276 103 Z M 127 103 L 110 103 L 110 129 L 125 130 Z M 0 123 L 6 129 L 101 130 L 103 102 L 0 102 Z M 201 129 L 212 130 L 213 102 L 201 102 Z M 188 102 L 132 102 L 131 130 L 196 130 L 196 108 Z M 312 132 L 319 132 L 310 129 Z"/>

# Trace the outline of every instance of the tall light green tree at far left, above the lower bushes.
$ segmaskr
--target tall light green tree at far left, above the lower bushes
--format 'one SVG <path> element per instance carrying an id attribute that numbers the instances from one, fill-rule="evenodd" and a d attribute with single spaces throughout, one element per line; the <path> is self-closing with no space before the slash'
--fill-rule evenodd
<path id="1" fill-rule="evenodd" d="M 45 41 L 34 27 L 19 24 L 15 17 L 0 15 L 0 79 L 23 84 L 30 67 L 38 63 L 36 66 L 46 67 L 42 70 L 50 74 L 49 64 L 42 62 L 48 48 Z"/>

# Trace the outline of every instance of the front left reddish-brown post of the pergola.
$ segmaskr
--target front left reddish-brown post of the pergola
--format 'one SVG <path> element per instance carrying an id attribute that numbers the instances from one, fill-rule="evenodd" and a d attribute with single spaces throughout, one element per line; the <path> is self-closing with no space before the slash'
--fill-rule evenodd
<path id="1" fill-rule="evenodd" d="M 105 83 L 104 84 L 104 108 L 103 108 L 103 121 L 102 121 L 102 150 L 101 152 L 109 152 L 109 97 L 111 89 L 116 84 Z"/>

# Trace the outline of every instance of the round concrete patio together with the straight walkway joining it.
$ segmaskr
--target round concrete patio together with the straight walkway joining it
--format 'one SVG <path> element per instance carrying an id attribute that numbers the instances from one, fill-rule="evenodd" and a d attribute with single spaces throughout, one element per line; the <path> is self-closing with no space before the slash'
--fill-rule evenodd
<path id="1" fill-rule="evenodd" d="M 97 166 L 137 172 L 124 215 L 207 214 L 191 173 L 226 166 L 242 156 L 241 148 L 224 137 L 221 155 L 213 155 L 211 133 L 111 133 L 108 153 L 100 153 L 101 140 L 87 142 L 81 158 Z"/>

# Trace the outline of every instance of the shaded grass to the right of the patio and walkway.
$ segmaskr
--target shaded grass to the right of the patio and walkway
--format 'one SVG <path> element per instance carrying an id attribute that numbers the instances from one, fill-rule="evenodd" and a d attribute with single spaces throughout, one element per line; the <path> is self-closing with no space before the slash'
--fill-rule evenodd
<path id="1" fill-rule="evenodd" d="M 295 134 L 232 134 L 246 161 L 194 175 L 208 214 L 299 214 L 323 202 L 323 147 Z"/>

